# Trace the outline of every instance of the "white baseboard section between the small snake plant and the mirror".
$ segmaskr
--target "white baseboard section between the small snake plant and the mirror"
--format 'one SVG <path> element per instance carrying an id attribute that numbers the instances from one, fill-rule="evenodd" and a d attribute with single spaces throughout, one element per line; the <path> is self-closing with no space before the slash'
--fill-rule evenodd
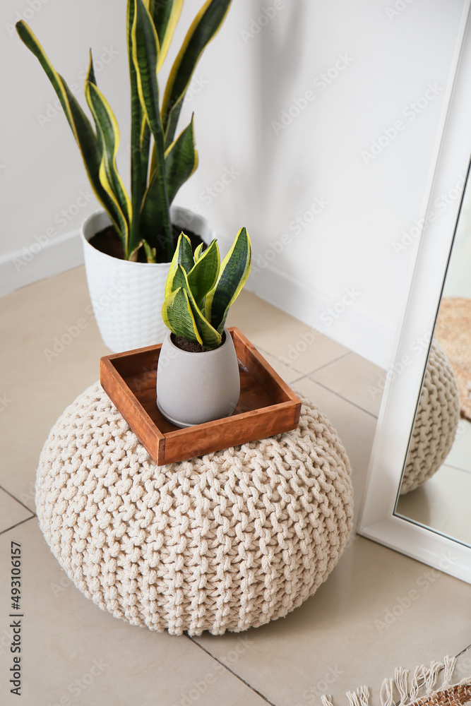
<path id="1" fill-rule="evenodd" d="M 258 297 L 320 330 L 377 366 L 387 369 L 393 351 L 395 330 L 361 311 L 361 289 L 345 287 L 333 299 L 324 292 L 308 289 L 301 282 L 280 272 L 273 265 L 253 266 L 247 287 Z M 344 304 L 342 298 L 349 302 Z"/>

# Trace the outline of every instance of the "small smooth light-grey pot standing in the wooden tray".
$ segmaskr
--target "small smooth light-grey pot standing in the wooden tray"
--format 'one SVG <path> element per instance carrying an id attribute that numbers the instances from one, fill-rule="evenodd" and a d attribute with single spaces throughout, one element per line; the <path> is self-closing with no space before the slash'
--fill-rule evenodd
<path id="1" fill-rule="evenodd" d="M 213 351 L 177 348 L 168 332 L 157 364 L 157 407 L 175 426 L 229 417 L 237 405 L 240 377 L 232 336 Z"/>

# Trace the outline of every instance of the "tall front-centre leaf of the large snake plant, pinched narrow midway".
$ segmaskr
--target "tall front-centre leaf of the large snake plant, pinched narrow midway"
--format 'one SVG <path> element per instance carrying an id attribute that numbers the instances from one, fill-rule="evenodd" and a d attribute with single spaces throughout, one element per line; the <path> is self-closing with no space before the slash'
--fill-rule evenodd
<path id="1" fill-rule="evenodd" d="M 141 208 L 141 237 L 151 247 L 160 237 L 165 239 L 167 257 L 172 260 L 173 234 L 169 217 L 169 198 L 165 177 L 165 150 L 162 122 L 160 119 L 159 88 L 157 85 L 158 37 L 153 20 L 142 0 L 129 0 L 133 5 L 133 27 L 131 45 L 141 105 L 150 131 L 155 140 L 156 164 L 153 174 L 152 194 L 146 192 Z M 155 181 L 154 181 L 155 180 Z M 151 184 L 149 185 L 149 189 Z M 148 189 L 148 191 L 149 191 Z"/>

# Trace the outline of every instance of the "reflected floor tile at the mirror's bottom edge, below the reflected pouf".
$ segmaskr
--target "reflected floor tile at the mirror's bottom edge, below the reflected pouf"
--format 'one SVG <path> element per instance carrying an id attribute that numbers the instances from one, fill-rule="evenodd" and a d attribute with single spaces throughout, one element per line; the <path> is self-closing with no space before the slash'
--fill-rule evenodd
<path id="1" fill-rule="evenodd" d="M 399 496 L 396 512 L 471 545 L 471 473 L 443 464 L 434 476 Z"/>

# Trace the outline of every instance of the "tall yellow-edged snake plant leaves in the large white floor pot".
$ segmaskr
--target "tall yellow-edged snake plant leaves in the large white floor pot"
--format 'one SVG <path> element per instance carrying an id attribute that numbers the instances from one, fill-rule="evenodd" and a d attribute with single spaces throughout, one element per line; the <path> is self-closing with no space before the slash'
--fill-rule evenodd
<path id="1" fill-rule="evenodd" d="M 117 170 L 117 120 L 97 88 L 91 50 L 85 97 L 95 130 L 37 37 L 23 20 L 16 24 L 18 35 L 40 61 L 59 97 L 90 184 L 111 217 L 126 260 L 137 260 L 141 247 L 148 262 L 172 260 L 174 239 L 169 207 L 198 166 L 193 118 L 175 138 L 177 122 L 198 59 L 222 25 L 230 4 L 231 0 L 208 0 L 198 12 L 169 73 L 160 106 L 157 73 L 172 41 L 183 0 L 128 1 L 131 197 Z"/>

